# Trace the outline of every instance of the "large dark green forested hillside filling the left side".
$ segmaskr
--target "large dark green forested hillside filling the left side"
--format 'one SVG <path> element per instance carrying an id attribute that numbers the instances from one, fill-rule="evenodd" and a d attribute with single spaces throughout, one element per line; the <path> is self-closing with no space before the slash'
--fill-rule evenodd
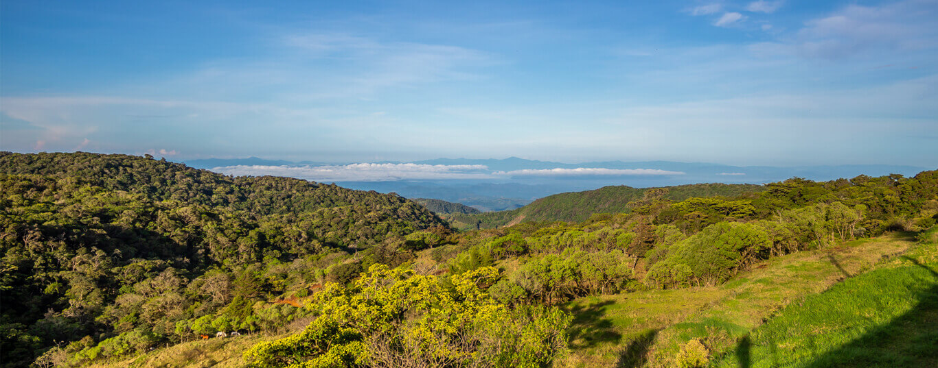
<path id="1" fill-rule="evenodd" d="M 87 361 L 280 328 L 306 312 L 266 301 L 412 258 L 388 244 L 418 229 L 448 231 L 412 201 L 336 185 L 0 153 L 2 364 L 26 366 L 58 342 Z"/>

